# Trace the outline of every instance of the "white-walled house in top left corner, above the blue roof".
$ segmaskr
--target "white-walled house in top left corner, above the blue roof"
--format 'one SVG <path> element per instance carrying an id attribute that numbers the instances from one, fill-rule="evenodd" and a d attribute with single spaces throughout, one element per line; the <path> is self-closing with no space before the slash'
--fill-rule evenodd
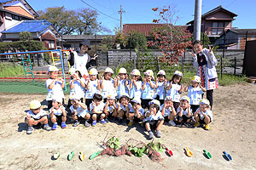
<path id="1" fill-rule="evenodd" d="M 25 0 L 0 0 L 0 37 L 2 31 L 20 23 L 20 20 L 36 20 L 38 13 Z"/>

